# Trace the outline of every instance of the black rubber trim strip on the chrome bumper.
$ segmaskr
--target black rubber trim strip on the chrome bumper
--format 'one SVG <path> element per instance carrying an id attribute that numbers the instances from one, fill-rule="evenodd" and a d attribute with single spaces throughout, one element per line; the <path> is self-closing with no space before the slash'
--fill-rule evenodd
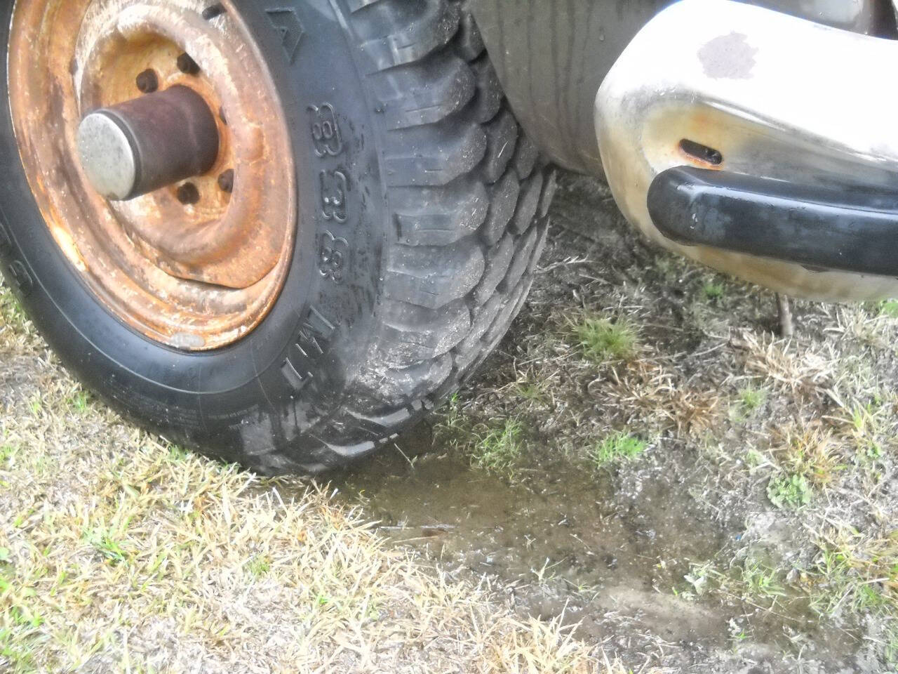
<path id="1" fill-rule="evenodd" d="M 681 244 L 898 276 L 898 191 L 802 185 L 681 166 L 659 173 L 648 212 Z"/>

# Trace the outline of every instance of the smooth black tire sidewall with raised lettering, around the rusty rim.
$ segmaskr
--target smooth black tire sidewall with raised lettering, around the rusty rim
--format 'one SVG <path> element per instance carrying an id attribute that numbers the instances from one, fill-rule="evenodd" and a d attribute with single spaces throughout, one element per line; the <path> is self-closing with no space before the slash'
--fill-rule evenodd
<path id="1" fill-rule="evenodd" d="M 13 133 L 6 67 L 0 72 L 0 260 L 60 359 L 119 410 L 226 458 L 265 455 L 302 438 L 308 466 L 315 445 L 325 447 L 329 420 L 374 341 L 385 192 L 370 108 L 332 6 L 235 4 L 281 94 L 299 187 L 295 253 L 262 323 L 229 347 L 187 353 L 111 315 L 61 253 L 32 197 Z M 4 55 L 12 10 L 12 0 L 0 2 Z M 322 138 L 323 122 L 339 128 L 339 136 Z M 343 199 L 335 212 L 324 198 L 338 194 Z"/>

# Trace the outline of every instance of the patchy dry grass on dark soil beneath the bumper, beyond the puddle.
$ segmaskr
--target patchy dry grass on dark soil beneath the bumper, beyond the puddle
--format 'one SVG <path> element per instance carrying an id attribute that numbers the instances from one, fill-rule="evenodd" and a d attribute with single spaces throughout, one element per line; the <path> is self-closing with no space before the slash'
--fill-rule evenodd
<path id="1" fill-rule="evenodd" d="M 643 460 L 593 472 L 612 484 L 606 500 L 674 475 L 672 495 L 688 489 L 726 532 L 713 559 L 679 560 L 692 580 L 673 579 L 675 591 L 697 583 L 707 606 L 716 587 L 765 616 L 766 634 L 781 625 L 819 655 L 830 647 L 819 630 L 832 630 L 855 640 L 832 646 L 834 659 L 894 670 L 898 302 L 796 302 L 795 337 L 780 339 L 770 293 L 634 241 L 601 186 L 570 178 L 559 195 L 546 278 L 459 409 L 471 423 L 525 423 L 539 441 L 522 472 L 559 457 L 589 467 L 615 433 L 651 439 Z M 605 348 L 618 324 L 636 338 L 621 355 Z M 657 523 L 637 497 L 621 501 Z"/>

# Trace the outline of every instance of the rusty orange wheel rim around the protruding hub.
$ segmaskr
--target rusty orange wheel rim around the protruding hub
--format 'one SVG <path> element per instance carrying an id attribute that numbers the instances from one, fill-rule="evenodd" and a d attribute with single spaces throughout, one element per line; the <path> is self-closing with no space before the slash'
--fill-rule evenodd
<path id="1" fill-rule="evenodd" d="M 292 257 L 295 170 L 277 88 L 233 4 L 18 0 L 8 73 L 31 191 L 102 303 L 180 350 L 220 348 L 251 332 Z M 79 162 L 79 123 L 179 85 L 215 111 L 215 164 L 133 200 L 104 199 Z"/>

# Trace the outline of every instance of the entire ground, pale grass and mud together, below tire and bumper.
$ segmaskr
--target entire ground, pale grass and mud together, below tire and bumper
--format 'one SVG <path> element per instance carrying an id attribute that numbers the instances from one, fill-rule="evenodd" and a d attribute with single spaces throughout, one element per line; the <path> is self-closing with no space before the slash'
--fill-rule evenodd
<path id="1" fill-rule="evenodd" d="M 0 671 L 895 671 L 898 302 L 784 340 L 603 185 L 552 217 L 480 373 L 330 482 L 129 427 L 0 297 Z"/>

